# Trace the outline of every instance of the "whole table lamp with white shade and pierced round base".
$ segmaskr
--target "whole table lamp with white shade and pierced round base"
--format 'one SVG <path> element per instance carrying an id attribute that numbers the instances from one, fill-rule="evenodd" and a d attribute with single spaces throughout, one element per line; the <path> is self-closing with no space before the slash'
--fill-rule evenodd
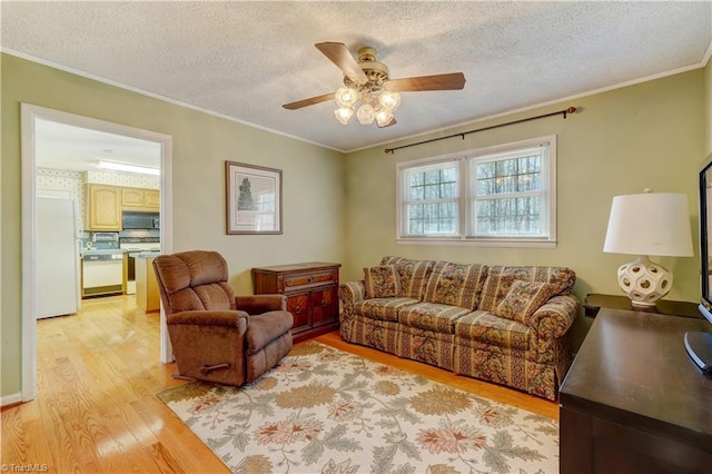
<path id="1" fill-rule="evenodd" d="M 693 256 L 688 196 L 645 189 L 614 197 L 603 251 L 639 255 L 619 268 L 619 285 L 633 306 L 655 306 L 672 288 L 672 274 L 649 256 Z"/>

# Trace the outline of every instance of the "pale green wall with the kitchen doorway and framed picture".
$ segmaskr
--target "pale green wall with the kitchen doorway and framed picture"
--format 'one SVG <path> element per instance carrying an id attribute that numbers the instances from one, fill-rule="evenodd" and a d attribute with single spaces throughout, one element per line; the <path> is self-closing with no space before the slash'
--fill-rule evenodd
<path id="1" fill-rule="evenodd" d="M 240 294 L 251 293 L 255 266 L 343 260 L 343 154 L 13 56 L 0 68 L 0 396 L 21 389 L 20 102 L 172 136 L 174 251 L 221 253 Z M 225 234 L 226 160 L 283 170 L 283 235 Z"/>

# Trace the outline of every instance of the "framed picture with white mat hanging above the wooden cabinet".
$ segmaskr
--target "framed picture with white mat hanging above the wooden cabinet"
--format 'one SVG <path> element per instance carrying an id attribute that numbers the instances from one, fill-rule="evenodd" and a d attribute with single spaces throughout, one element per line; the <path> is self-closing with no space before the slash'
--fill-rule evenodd
<path id="1" fill-rule="evenodd" d="M 225 161 L 227 234 L 281 234 L 281 170 Z"/>

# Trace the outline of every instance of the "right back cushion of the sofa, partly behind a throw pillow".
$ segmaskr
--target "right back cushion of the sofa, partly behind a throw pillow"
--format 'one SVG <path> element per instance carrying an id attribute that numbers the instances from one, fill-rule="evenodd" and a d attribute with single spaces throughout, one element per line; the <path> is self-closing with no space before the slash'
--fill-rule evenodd
<path id="1" fill-rule="evenodd" d="M 568 295 L 576 283 L 576 274 L 565 267 L 505 267 L 492 266 L 487 270 L 477 309 L 495 312 L 515 280 L 541 282 L 560 286 L 558 295 Z"/>

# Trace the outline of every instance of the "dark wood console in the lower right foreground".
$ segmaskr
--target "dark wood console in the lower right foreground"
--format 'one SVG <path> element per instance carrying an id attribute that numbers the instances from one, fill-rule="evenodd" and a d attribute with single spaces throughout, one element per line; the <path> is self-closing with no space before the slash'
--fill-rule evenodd
<path id="1" fill-rule="evenodd" d="M 712 377 L 684 348 L 705 319 L 602 308 L 560 391 L 560 467 L 712 472 Z"/>

